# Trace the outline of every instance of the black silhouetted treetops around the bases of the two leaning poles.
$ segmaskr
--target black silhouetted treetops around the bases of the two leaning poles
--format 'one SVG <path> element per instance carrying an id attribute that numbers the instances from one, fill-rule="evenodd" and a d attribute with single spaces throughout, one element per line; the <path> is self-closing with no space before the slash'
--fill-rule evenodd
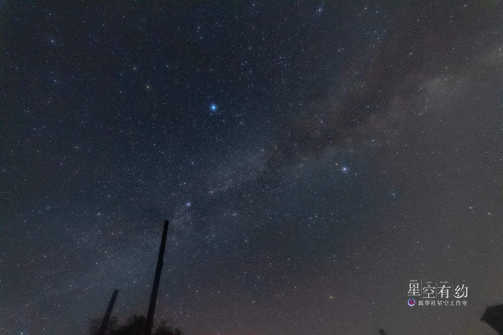
<path id="1" fill-rule="evenodd" d="M 145 331 L 145 322 L 146 319 L 143 315 L 132 315 L 127 319 L 125 324 L 117 326 L 117 318 L 114 316 L 110 318 L 105 335 L 143 335 L 143 332 Z M 89 327 L 90 335 L 97 335 L 100 325 L 101 319 L 92 320 Z M 152 334 L 183 335 L 182 331 L 178 328 L 172 330 L 172 328 L 167 325 L 166 321 L 161 321 L 157 328 L 152 331 Z"/>

